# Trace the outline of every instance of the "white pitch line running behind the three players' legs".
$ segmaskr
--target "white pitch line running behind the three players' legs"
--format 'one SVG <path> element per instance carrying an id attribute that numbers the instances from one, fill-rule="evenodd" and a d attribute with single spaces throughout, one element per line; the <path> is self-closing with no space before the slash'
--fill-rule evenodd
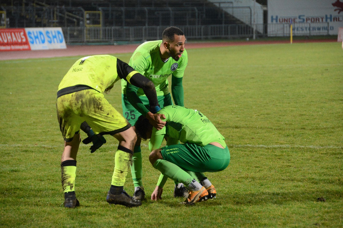
<path id="1" fill-rule="evenodd" d="M 106 144 L 106 146 L 116 146 L 117 144 Z M 0 147 L 50 147 L 50 148 L 61 148 L 61 145 L 22 145 L 22 144 L 0 144 Z M 90 145 L 80 144 L 80 147 L 89 147 Z M 243 145 L 228 145 L 228 147 L 251 147 L 251 148 L 311 148 L 311 149 L 343 149 L 343 146 L 301 146 L 301 145 L 251 145 L 251 144 L 243 144 Z"/>

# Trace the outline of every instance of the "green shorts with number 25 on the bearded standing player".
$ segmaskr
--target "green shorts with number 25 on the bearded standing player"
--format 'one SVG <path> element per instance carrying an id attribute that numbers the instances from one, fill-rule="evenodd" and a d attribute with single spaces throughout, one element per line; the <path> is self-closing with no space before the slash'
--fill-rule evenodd
<path id="1" fill-rule="evenodd" d="M 145 107 L 149 110 L 150 104 L 148 98 L 146 96 L 139 96 L 139 98 L 141 99 Z M 159 107 L 161 108 L 163 108 L 164 106 L 173 105 L 170 93 L 163 96 L 157 96 L 157 100 Z M 121 105 L 123 107 L 123 116 L 129 121 L 131 125 L 134 125 L 138 117 L 142 114 L 131 105 L 126 97 L 126 94 L 121 94 Z"/>

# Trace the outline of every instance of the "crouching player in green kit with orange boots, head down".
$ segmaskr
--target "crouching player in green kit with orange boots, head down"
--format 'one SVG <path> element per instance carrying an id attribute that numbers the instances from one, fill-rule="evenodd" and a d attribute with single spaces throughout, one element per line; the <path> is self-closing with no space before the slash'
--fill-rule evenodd
<path id="1" fill-rule="evenodd" d="M 198 110 L 170 105 L 157 113 L 166 117 L 163 120 L 167 123 L 162 130 L 153 128 L 144 116 L 135 123 L 139 137 L 151 138 L 149 160 L 163 174 L 151 199 L 161 199 L 168 177 L 184 183 L 189 189 L 185 204 L 215 198 L 216 190 L 203 172 L 222 171 L 229 165 L 230 152 L 223 135 Z M 163 139 L 167 140 L 168 146 L 160 148 Z M 178 144 L 179 141 L 182 144 Z"/>

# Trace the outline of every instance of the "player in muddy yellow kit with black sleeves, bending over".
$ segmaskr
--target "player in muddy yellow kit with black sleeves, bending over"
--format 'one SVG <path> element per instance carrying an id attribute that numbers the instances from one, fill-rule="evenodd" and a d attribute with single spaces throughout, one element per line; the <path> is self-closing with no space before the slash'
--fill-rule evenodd
<path id="1" fill-rule="evenodd" d="M 86 123 L 89 124 L 86 128 L 92 128 L 95 135 L 109 134 L 119 141 L 106 201 L 128 207 L 142 204 L 123 189 L 137 135 L 130 123 L 108 103 L 103 94 L 109 93 L 114 83 L 120 79 L 142 88 L 150 106 L 158 107 L 154 84 L 127 63 L 111 55 L 93 55 L 79 59 L 58 86 L 56 108 L 64 138 L 61 177 L 65 207 L 80 205 L 74 191 L 76 155 L 80 145 L 80 126 Z M 157 128 L 162 128 L 165 124 L 160 119 L 163 117 L 161 114 L 148 111 L 146 117 Z"/>

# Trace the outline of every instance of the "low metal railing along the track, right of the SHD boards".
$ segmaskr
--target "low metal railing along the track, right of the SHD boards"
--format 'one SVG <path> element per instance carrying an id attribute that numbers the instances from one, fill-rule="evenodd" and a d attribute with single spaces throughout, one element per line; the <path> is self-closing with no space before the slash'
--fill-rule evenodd
<path id="1" fill-rule="evenodd" d="M 134 27 L 63 27 L 64 37 L 71 43 L 117 43 L 158 40 L 167 26 Z M 256 37 L 290 36 L 289 24 L 203 25 L 178 26 L 191 39 L 236 39 Z M 259 32 L 257 32 L 259 31 Z M 263 32 L 260 32 L 263 31 Z M 294 23 L 293 36 L 329 35 L 329 23 Z"/>

